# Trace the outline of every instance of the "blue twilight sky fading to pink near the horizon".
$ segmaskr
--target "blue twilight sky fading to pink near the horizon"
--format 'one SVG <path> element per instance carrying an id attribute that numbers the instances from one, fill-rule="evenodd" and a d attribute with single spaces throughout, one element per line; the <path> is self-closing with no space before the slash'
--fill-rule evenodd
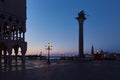
<path id="1" fill-rule="evenodd" d="M 84 22 L 84 53 L 96 50 L 120 53 L 120 0 L 27 0 L 27 54 L 78 54 L 78 22 Z"/>

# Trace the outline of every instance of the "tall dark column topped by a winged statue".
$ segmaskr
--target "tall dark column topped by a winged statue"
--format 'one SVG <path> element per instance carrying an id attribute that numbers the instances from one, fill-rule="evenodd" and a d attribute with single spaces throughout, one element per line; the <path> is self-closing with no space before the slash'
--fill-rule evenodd
<path id="1" fill-rule="evenodd" d="M 84 11 L 80 11 L 80 13 L 78 13 L 78 17 L 76 17 L 76 19 L 78 20 L 79 23 L 79 57 L 80 58 L 84 58 L 84 31 L 83 31 L 83 23 L 86 20 L 86 16 Z"/>

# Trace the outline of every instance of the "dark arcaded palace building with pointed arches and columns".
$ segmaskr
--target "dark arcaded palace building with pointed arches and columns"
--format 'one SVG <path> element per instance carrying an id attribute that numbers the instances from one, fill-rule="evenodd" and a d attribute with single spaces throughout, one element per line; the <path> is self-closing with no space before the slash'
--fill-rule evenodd
<path id="1" fill-rule="evenodd" d="M 0 0 L 0 62 L 3 55 L 4 62 L 11 63 L 14 50 L 17 63 L 19 48 L 25 62 L 25 32 L 26 0 Z"/>

